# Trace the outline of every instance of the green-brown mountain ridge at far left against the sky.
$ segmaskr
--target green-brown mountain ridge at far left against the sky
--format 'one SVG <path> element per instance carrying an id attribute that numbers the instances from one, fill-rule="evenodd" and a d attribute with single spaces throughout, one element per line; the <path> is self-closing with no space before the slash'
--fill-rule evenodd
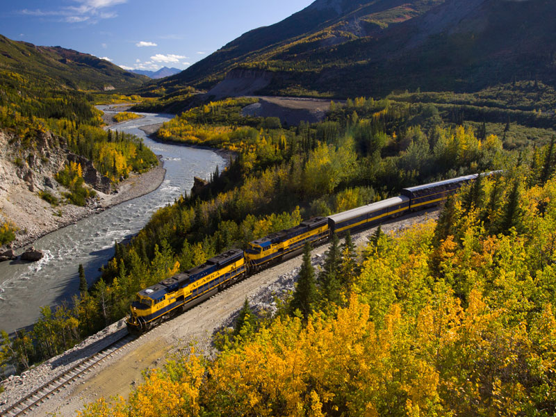
<path id="1" fill-rule="evenodd" d="M 136 88 L 148 80 L 96 56 L 62 47 L 38 47 L 0 35 L 2 70 L 51 88 L 80 90 Z"/>

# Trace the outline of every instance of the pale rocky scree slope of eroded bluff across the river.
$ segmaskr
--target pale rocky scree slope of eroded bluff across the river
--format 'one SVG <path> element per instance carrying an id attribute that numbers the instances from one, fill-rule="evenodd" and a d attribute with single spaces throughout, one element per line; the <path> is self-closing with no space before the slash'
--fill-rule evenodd
<path id="1" fill-rule="evenodd" d="M 18 138 L 0 130 L 0 224 L 10 222 L 17 227 L 16 247 L 100 210 L 95 199 L 78 207 L 53 206 L 40 197 L 43 192 L 63 199 L 62 193 L 68 190 L 54 176 L 69 161 L 81 164 L 85 183 L 99 195 L 111 193 L 110 179 L 101 176 L 92 162 L 72 154 L 66 145 L 65 138 L 42 133 L 35 146 L 25 147 Z"/>

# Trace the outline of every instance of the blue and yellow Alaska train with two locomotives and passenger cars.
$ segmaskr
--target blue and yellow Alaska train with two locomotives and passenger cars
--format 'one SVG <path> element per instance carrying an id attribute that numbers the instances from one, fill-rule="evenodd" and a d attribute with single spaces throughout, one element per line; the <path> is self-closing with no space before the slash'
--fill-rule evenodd
<path id="1" fill-rule="evenodd" d="M 301 222 L 291 229 L 253 240 L 245 250 L 231 249 L 173 277 L 164 279 L 136 295 L 131 314 L 126 320 L 130 333 L 140 334 L 173 316 L 212 297 L 223 288 L 259 272 L 270 265 L 299 254 L 305 243 L 316 246 L 327 242 L 332 234 L 373 227 L 411 211 L 437 206 L 461 186 L 479 175 L 427 183 L 404 188 L 398 197 L 391 197 L 365 206 L 317 217 Z"/>

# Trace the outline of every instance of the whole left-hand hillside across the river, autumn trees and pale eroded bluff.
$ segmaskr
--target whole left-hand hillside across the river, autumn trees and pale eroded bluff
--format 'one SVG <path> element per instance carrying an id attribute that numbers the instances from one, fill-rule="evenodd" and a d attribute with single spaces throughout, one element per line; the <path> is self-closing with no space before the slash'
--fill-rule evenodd
<path id="1" fill-rule="evenodd" d="M 93 93 L 144 80 L 95 56 L 0 35 L 0 225 L 17 230 L 0 244 L 26 244 L 108 206 L 122 179 L 158 165 L 136 138 L 113 140 L 92 106 Z"/>

